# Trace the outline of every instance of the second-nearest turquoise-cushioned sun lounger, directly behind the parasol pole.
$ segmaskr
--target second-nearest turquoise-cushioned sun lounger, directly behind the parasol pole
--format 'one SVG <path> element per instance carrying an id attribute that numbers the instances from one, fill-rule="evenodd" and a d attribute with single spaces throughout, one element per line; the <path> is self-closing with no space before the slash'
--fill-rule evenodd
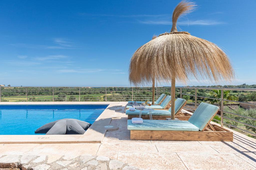
<path id="1" fill-rule="evenodd" d="M 185 99 L 177 98 L 175 100 L 175 118 L 178 118 L 179 120 L 188 120 L 190 118 L 191 115 L 185 116 L 183 113 L 180 112 L 186 103 L 187 101 Z M 171 108 L 169 108 L 169 110 L 153 110 L 151 111 L 151 113 L 154 120 L 166 120 L 166 118 L 171 117 Z M 128 119 L 132 119 L 133 117 L 139 116 L 140 110 L 130 111 L 129 109 L 127 109 L 125 111 L 125 114 L 128 115 Z M 149 110 L 141 111 L 141 118 L 150 119 Z"/>

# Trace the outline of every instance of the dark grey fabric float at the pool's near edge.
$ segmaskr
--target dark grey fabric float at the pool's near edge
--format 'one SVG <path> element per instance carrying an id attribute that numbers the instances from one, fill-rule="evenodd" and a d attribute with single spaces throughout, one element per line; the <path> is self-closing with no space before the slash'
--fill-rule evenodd
<path id="1" fill-rule="evenodd" d="M 46 135 L 84 134 L 90 126 L 90 123 L 77 119 L 60 119 L 39 127 L 35 133 Z"/>

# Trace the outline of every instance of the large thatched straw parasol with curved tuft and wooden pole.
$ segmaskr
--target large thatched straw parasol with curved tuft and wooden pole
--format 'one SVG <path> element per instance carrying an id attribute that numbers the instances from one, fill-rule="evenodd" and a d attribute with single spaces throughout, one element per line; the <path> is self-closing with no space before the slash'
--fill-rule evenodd
<path id="1" fill-rule="evenodd" d="M 175 80 L 186 83 L 189 78 L 214 82 L 234 79 L 234 70 L 227 55 L 214 43 L 178 32 L 180 16 L 195 8 L 193 2 L 182 1 L 173 11 L 172 29 L 136 50 L 130 62 L 129 81 L 134 85 L 150 83 L 154 79 L 171 84 L 171 112 L 175 114 Z"/>

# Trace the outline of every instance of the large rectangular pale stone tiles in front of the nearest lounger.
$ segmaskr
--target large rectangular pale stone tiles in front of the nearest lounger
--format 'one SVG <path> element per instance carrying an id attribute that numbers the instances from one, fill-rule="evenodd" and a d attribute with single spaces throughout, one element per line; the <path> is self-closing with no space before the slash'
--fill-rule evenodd
<path id="1" fill-rule="evenodd" d="M 256 140 L 234 132 L 233 142 L 130 140 L 127 116 L 112 120 L 98 154 L 143 169 L 256 169 Z"/>

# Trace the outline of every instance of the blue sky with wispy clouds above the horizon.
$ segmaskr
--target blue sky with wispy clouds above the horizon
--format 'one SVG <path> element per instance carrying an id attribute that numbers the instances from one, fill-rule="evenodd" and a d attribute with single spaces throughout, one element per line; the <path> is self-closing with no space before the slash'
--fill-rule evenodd
<path id="1" fill-rule="evenodd" d="M 225 50 L 237 73 L 229 84 L 256 84 L 256 1 L 195 2 L 197 10 L 179 20 L 180 30 Z M 0 84 L 129 86 L 132 54 L 153 35 L 170 31 L 178 3 L 1 1 Z"/>

